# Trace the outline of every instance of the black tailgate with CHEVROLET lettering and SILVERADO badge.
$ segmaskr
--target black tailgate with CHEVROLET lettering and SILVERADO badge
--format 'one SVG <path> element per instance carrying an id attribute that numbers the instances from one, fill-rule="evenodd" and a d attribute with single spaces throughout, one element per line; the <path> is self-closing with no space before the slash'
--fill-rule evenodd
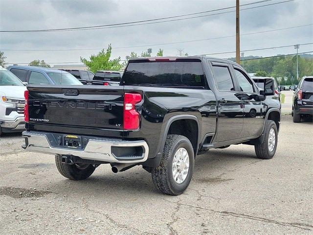
<path id="1" fill-rule="evenodd" d="M 30 124 L 123 129 L 123 87 L 31 86 L 28 90 Z"/>

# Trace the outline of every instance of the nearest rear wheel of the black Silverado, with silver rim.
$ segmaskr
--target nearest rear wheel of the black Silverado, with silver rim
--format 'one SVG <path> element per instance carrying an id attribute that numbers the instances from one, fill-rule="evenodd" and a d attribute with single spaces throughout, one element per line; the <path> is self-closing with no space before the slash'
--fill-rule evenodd
<path id="1" fill-rule="evenodd" d="M 195 164 L 191 142 L 184 136 L 168 135 L 161 163 L 152 168 L 156 188 L 168 195 L 179 195 L 189 186 Z"/>

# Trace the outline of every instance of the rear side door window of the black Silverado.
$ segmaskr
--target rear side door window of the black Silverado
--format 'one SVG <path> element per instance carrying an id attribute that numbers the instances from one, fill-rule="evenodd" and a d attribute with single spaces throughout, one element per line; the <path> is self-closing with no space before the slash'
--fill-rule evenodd
<path id="1" fill-rule="evenodd" d="M 219 91 L 234 91 L 234 83 L 231 79 L 228 66 L 212 66 L 213 75 Z"/>

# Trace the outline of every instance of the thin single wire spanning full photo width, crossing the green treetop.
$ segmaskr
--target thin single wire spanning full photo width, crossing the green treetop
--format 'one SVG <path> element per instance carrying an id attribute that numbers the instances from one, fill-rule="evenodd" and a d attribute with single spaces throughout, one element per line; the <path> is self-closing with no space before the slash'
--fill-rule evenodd
<path id="1" fill-rule="evenodd" d="M 310 26 L 310 25 L 313 25 L 313 24 L 303 24 L 303 25 L 297 25 L 297 26 L 292 26 L 292 27 L 287 27 L 287 28 L 278 28 L 278 29 L 272 29 L 272 30 L 266 30 L 266 31 L 244 33 L 244 34 L 240 34 L 240 35 L 241 36 L 245 36 L 245 35 L 252 35 L 252 34 L 259 34 L 259 33 L 267 33 L 267 32 L 280 31 L 280 30 L 291 29 L 291 28 L 305 27 L 305 26 Z M 231 38 L 231 37 L 235 37 L 235 35 L 223 36 L 223 37 L 215 37 L 215 38 L 197 39 L 197 40 L 189 40 L 189 41 L 172 42 L 172 43 L 149 44 L 149 45 L 128 46 L 128 47 L 112 47 L 112 49 L 163 46 L 163 45 L 200 42 L 200 41 L 207 41 L 207 40 L 213 40 L 213 39 L 223 39 L 223 38 Z M 75 50 L 101 50 L 101 49 L 103 49 L 103 48 L 81 48 L 81 49 L 0 49 L 0 50 L 3 50 L 3 51 L 70 51 L 70 50 L 72 50 L 72 51 L 75 51 Z"/>

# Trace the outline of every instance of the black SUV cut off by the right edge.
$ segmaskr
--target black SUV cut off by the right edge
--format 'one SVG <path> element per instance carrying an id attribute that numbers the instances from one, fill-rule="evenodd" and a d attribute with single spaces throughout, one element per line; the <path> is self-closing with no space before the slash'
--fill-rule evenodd
<path id="1" fill-rule="evenodd" d="M 298 86 L 290 86 L 292 97 L 292 120 L 301 122 L 301 117 L 313 116 L 313 76 L 304 77 Z"/>

